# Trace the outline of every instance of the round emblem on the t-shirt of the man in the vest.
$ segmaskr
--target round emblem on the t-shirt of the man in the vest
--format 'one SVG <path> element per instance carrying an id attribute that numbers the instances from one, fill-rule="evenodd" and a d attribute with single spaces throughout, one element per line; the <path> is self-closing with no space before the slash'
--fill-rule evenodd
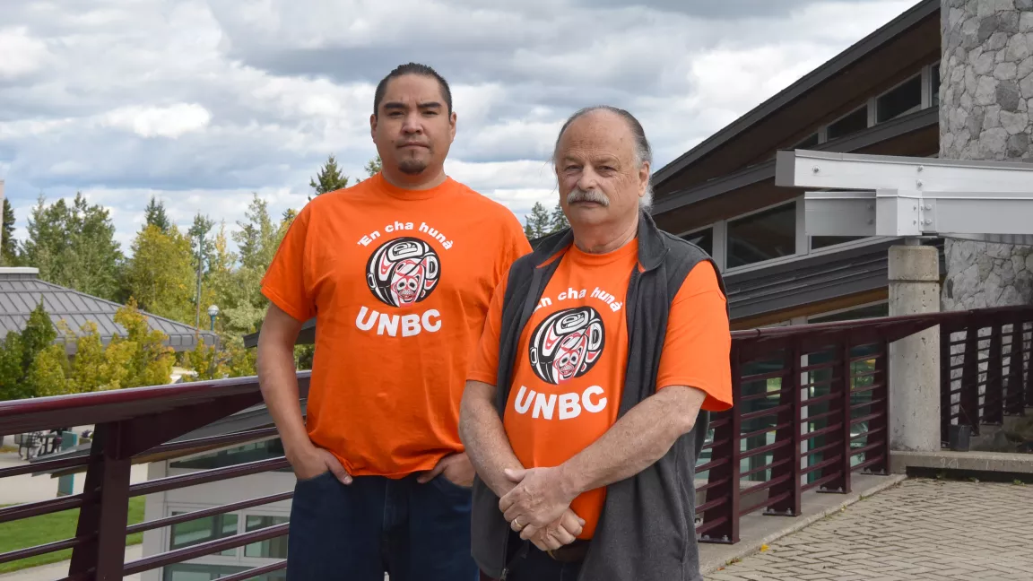
<path id="1" fill-rule="evenodd" d="M 542 381 L 564 384 L 592 369 L 604 342 L 605 330 L 597 310 L 576 307 L 555 312 L 531 335 L 531 368 Z"/>

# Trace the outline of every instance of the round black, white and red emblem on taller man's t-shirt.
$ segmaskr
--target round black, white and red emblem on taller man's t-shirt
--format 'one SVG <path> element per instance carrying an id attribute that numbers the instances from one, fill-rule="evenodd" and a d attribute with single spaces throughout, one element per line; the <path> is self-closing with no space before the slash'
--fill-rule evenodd
<path id="1" fill-rule="evenodd" d="M 431 295 L 441 278 L 441 261 L 418 238 L 396 238 L 381 244 L 366 264 L 373 296 L 393 307 L 414 305 Z"/>

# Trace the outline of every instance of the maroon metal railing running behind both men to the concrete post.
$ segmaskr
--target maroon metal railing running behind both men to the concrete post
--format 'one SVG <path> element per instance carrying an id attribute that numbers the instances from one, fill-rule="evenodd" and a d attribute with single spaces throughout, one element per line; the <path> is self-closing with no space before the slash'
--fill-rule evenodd
<path id="1" fill-rule="evenodd" d="M 734 332 L 735 405 L 712 418 L 711 435 L 696 468 L 697 496 L 702 497 L 696 509 L 700 540 L 735 543 L 744 515 L 760 510 L 799 515 L 806 491 L 845 493 L 853 473 L 884 472 L 889 457 L 889 343 L 943 323 L 961 325 L 964 317 L 978 314 L 937 313 Z M 1006 334 L 1007 328 L 1002 329 Z M 299 377 L 305 397 L 309 373 Z M 30 465 L 0 469 L 0 483 L 21 475 L 86 469 L 80 494 L 0 509 L 0 524 L 80 510 L 73 537 L 0 554 L 0 564 L 71 549 L 63 579 L 122 579 L 286 536 L 289 523 L 275 524 L 124 562 L 127 534 L 291 498 L 292 492 L 284 491 L 186 514 L 149 515 L 152 520 L 127 527 L 131 497 L 287 468 L 286 459 L 277 456 L 130 483 L 134 459 L 170 458 L 275 436 L 271 420 L 232 433 L 188 435 L 261 401 L 256 378 L 241 377 L 0 402 L 0 433 L 95 426 L 89 454 L 36 459 Z M 285 562 L 277 560 L 220 579 L 252 579 L 284 568 Z"/>

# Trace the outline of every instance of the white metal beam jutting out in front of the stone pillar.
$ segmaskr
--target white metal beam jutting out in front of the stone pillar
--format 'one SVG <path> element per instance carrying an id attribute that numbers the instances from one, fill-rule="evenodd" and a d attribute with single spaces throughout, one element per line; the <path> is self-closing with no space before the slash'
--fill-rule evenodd
<path id="1" fill-rule="evenodd" d="M 805 194 L 811 236 L 1033 237 L 1033 163 L 797 150 L 779 152 L 775 180 L 850 189 Z"/>

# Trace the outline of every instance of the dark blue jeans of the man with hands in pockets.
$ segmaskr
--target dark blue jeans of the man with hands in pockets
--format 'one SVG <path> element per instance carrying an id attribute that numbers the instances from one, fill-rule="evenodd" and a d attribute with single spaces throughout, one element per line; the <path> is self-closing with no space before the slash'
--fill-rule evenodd
<path id="1" fill-rule="evenodd" d="M 287 581 L 477 581 L 470 554 L 471 491 L 330 472 L 299 481 L 290 509 Z"/>

